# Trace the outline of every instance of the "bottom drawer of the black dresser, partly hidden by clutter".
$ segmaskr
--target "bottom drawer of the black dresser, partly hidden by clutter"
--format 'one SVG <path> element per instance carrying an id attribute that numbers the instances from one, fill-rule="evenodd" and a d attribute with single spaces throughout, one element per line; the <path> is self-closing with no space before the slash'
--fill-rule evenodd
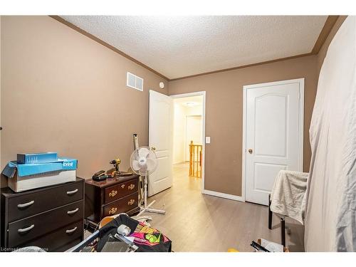
<path id="1" fill-rule="evenodd" d="M 61 229 L 45 234 L 26 243 L 25 246 L 38 246 L 46 251 L 63 251 L 63 246 L 77 240 L 80 243 L 83 237 L 83 220 L 69 224 Z M 21 246 L 21 245 L 20 245 Z M 70 246 L 71 247 L 71 246 Z"/>

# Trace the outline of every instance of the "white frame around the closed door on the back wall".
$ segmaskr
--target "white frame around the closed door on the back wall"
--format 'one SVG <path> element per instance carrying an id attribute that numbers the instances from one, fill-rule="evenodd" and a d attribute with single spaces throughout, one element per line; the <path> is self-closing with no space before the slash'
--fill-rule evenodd
<path id="1" fill-rule="evenodd" d="M 245 173 L 246 173 L 246 98 L 247 90 L 256 87 L 271 86 L 271 85 L 283 85 L 288 83 L 299 83 L 299 162 L 298 168 L 300 172 L 303 172 L 303 135 L 304 135 L 304 78 L 293 80 L 279 80 L 271 83 L 256 83 L 253 85 L 244 85 L 244 102 L 243 102 L 243 119 L 242 119 L 242 184 L 241 184 L 241 197 L 246 200 L 246 186 L 245 186 Z"/>

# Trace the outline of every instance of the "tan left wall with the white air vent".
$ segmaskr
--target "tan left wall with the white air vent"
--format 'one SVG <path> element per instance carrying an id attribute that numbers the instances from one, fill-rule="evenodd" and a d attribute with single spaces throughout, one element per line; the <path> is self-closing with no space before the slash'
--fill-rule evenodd
<path id="1" fill-rule="evenodd" d="M 130 166 L 132 133 L 148 142 L 148 90 L 162 78 L 48 16 L 1 21 L 1 163 L 18 152 L 78 159 L 78 176 Z M 126 72 L 144 92 L 126 87 Z M 167 81 L 164 80 L 167 85 Z"/>

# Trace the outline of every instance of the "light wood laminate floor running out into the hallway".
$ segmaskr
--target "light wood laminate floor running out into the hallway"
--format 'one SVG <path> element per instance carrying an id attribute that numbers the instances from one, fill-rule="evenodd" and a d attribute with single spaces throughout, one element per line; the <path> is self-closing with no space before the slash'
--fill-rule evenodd
<path id="1" fill-rule="evenodd" d="M 279 219 L 273 216 L 268 229 L 268 207 L 201 194 L 201 179 L 188 176 L 187 163 L 173 167 L 171 188 L 149 198 L 153 208 L 166 214 L 150 214 L 151 224 L 172 240 L 173 251 L 253 251 L 251 241 L 267 239 L 281 242 Z M 147 213 L 149 214 L 149 213 Z M 304 251 L 304 230 L 298 222 L 287 219 L 290 251 Z"/>

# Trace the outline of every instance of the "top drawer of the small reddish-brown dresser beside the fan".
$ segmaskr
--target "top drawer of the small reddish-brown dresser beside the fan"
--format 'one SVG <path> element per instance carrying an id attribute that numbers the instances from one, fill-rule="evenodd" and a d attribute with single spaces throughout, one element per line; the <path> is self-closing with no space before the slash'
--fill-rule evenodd
<path id="1" fill-rule="evenodd" d="M 137 179 L 115 184 L 112 187 L 106 187 L 104 189 L 104 203 L 108 204 L 111 201 L 121 199 L 134 192 L 137 192 Z"/>

